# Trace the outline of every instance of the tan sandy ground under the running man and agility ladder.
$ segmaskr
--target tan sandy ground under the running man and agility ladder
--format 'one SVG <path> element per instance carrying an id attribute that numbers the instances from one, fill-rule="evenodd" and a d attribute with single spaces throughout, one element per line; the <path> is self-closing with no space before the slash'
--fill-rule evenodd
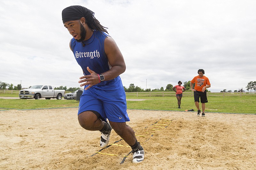
<path id="1" fill-rule="evenodd" d="M 0 169 L 256 169 L 256 115 L 127 110 L 144 147 L 132 164 L 121 140 L 99 146 L 100 132 L 77 121 L 77 108 L 1 111 Z M 110 144 L 121 138 L 112 131 Z M 93 155 L 93 156 L 92 156 Z"/>

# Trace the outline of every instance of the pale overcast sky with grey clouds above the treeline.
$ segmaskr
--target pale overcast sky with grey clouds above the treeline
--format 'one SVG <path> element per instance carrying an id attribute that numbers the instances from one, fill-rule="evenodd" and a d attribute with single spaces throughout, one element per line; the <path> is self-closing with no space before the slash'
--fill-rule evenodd
<path id="1" fill-rule="evenodd" d="M 256 81 L 254 0 L 0 0 L 0 81 L 79 87 L 61 11 L 81 5 L 108 27 L 126 63 L 125 87 L 166 88 L 205 70 L 211 92 Z"/>

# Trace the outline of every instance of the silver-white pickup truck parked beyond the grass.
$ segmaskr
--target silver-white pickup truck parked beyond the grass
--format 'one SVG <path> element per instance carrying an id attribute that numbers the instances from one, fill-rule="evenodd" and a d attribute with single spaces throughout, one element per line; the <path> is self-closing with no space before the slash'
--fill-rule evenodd
<path id="1" fill-rule="evenodd" d="M 19 98 L 20 99 L 51 99 L 57 98 L 61 100 L 64 96 L 65 90 L 54 90 L 51 85 L 34 85 L 29 89 L 20 90 Z"/>

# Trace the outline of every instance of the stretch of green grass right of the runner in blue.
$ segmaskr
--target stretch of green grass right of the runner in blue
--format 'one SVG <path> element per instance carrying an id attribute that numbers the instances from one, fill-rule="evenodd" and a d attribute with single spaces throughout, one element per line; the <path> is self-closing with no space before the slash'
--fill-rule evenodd
<path id="1" fill-rule="evenodd" d="M 256 114 L 256 95 L 243 97 L 208 97 L 205 104 L 205 112 L 221 113 L 254 113 Z M 199 104 L 200 108 L 201 103 Z M 144 101 L 127 101 L 127 108 L 130 109 L 152 109 L 152 110 L 190 110 L 196 111 L 194 98 L 183 97 L 181 99 L 181 109 L 178 109 L 177 99 L 153 99 Z M 202 109 L 201 109 L 202 110 Z"/>

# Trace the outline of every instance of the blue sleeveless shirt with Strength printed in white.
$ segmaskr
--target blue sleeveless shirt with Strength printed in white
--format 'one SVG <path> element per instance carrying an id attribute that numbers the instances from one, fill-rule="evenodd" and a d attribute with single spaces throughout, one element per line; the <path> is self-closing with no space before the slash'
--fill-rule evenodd
<path id="1" fill-rule="evenodd" d="M 87 67 L 97 74 L 104 73 L 111 68 L 104 48 L 104 40 L 107 36 L 109 35 L 104 32 L 94 30 L 92 36 L 88 40 L 82 41 L 83 43 L 77 42 L 74 38 L 71 39 L 71 49 L 85 75 L 90 75 Z M 83 44 L 85 44 L 84 47 Z M 108 81 L 102 81 L 97 85 L 105 85 Z"/>

